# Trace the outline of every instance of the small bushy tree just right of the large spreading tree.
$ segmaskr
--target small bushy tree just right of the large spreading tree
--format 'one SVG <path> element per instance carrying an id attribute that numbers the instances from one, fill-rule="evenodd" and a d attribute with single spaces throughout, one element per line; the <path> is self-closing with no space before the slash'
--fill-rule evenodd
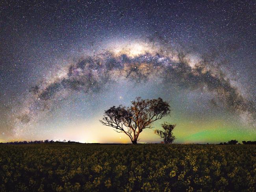
<path id="1" fill-rule="evenodd" d="M 171 144 L 173 143 L 175 137 L 173 135 L 173 129 L 176 125 L 171 125 L 168 123 L 164 123 L 161 124 L 161 126 L 163 127 L 164 131 L 158 130 L 156 129 L 154 132 L 156 133 L 156 135 L 159 135 L 160 138 L 163 138 L 163 141 L 165 144 Z"/>

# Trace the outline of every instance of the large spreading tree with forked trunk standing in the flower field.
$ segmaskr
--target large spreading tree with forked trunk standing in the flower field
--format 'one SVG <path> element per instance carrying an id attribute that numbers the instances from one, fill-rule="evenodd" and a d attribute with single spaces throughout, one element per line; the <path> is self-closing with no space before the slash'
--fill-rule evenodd
<path id="1" fill-rule="evenodd" d="M 152 128 L 154 121 L 169 115 L 170 112 L 170 105 L 161 98 L 143 100 L 137 97 L 130 107 L 110 107 L 100 122 L 113 127 L 118 133 L 125 133 L 133 144 L 137 144 L 143 129 Z"/>

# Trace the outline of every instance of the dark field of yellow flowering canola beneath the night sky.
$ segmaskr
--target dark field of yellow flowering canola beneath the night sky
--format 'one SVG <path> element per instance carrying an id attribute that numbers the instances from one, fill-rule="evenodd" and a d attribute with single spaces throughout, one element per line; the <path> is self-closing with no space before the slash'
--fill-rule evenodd
<path id="1" fill-rule="evenodd" d="M 0 191 L 256 190 L 256 145 L 0 145 Z"/>

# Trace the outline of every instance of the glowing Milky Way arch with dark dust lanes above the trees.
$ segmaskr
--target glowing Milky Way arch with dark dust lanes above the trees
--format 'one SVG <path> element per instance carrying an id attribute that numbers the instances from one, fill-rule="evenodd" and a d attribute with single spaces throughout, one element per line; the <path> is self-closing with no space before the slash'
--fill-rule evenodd
<path id="1" fill-rule="evenodd" d="M 17 116 L 16 131 L 20 124 L 24 126 L 36 121 L 59 98 L 65 98 L 63 93 L 100 92 L 107 89 L 107 83 L 121 79 L 136 83 L 160 79 L 162 83 L 186 89 L 204 88 L 215 93 L 215 100 L 221 102 L 226 110 L 249 116 L 255 126 L 255 103 L 247 100 L 211 62 L 161 46 L 134 44 L 84 56 L 77 63 L 65 66 L 61 75 L 56 74 L 54 78 L 31 87 L 29 97 Z"/>

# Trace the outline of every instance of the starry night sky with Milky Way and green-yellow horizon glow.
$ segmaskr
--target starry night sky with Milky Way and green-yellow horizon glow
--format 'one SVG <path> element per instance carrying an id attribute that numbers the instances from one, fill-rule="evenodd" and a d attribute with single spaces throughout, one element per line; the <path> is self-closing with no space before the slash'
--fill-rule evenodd
<path id="1" fill-rule="evenodd" d="M 0 142 L 130 143 L 100 124 L 137 96 L 176 143 L 256 140 L 255 1 L 0 2 Z M 139 142 L 160 142 L 145 129 Z"/>

